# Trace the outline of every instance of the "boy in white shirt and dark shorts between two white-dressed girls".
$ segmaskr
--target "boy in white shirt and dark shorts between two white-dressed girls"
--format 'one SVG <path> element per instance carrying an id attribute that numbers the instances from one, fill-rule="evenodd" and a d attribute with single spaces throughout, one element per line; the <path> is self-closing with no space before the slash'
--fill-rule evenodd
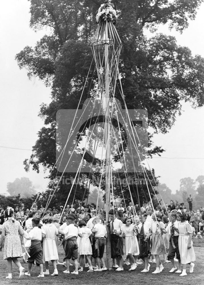
<path id="1" fill-rule="evenodd" d="M 71 272 L 72 274 L 79 274 L 78 273 L 78 245 L 77 245 L 77 236 L 78 236 L 78 229 L 74 225 L 74 217 L 68 216 L 66 218 L 67 226 L 62 230 L 59 228 L 59 233 L 65 235 L 65 260 L 67 265 L 67 270 L 63 271 L 63 273 L 69 274 L 69 259 L 72 258 L 74 260 L 75 271 Z"/>

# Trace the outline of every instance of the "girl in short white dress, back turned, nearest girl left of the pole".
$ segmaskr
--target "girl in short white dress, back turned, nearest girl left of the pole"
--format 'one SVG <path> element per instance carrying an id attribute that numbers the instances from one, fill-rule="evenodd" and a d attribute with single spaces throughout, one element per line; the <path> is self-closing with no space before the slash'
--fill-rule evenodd
<path id="1" fill-rule="evenodd" d="M 89 239 L 89 236 L 91 235 L 91 230 L 86 226 L 85 221 L 80 220 L 79 221 L 79 236 L 81 237 L 79 240 L 79 249 L 78 253 L 80 255 L 80 267 L 81 269 L 79 270 L 80 272 L 83 271 L 83 260 L 84 260 L 84 255 L 87 258 L 87 261 L 89 263 L 89 270 L 87 272 L 93 272 L 93 267 L 91 264 L 91 259 L 89 258 L 89 255 L 92 255 L 92 248 L 91 248 L 91 242 Z"/>

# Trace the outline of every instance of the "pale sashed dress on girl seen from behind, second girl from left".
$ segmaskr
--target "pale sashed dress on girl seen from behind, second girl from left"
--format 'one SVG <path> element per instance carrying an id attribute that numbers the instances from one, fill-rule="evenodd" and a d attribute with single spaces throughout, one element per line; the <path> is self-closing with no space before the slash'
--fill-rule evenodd
<path id="1" fill-rule="evenodd" d="M 55 243 L 55 235 L 58 234 L 58 229 L 53 224 L 43 224 L 41 227 L 42 233 L 45 234 L 43 239 L 43 260 L 57 260 L 58 252 Z"/>

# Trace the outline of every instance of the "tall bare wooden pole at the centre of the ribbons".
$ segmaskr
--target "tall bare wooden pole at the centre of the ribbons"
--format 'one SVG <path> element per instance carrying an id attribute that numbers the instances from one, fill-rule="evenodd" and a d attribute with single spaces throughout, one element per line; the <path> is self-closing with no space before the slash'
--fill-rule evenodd
<path id="1" fill-rule="evenodd" d="M 110 134 L 109 134 L 109 125 L 110 125 L 110 113 L 109 113 L 109 60 L 108 60 L 108 23 L 105 24 L 105 146 L 106 146 L 106 166 L 105 166 L 105 203 L 106 203 L 106 222 L 109 220 L 109 210 L 110 210 L 110 179 L 111 179 L 111 148 L 110 148 Z M 108 238 L 106 240 L 106 260 L 107 260 L 107 269 L 112 269 L 112 260 L 111 260 L 111 233 L 110 228 L 107 228 Z"/>

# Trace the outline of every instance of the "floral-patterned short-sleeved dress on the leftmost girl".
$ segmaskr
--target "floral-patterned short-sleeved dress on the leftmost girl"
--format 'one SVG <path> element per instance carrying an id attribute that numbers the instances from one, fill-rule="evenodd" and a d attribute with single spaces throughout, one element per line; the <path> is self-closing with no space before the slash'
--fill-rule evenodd
<path id="1" fill-rule="evenodd" d="M 13 223 L 12 219 L 9 218 L 2 225 L 2 229 L 5 231 L 5 243 L 3 258 L 8 259 L 9 257 L 22 257 L 21 241 L 19 237 L 19 229 L 21 224 L 19 221 Z"/>

